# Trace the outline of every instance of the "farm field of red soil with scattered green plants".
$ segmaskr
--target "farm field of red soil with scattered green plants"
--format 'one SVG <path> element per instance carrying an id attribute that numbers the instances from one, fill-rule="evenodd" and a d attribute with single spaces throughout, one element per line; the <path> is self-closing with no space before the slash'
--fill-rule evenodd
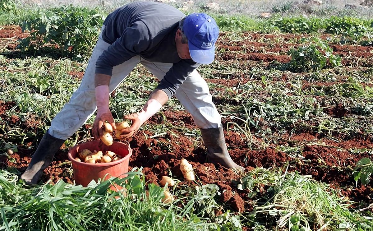
<path id="1" fill-rule="evenodd" d="M 22 53 L 18 40 L 30 32 L 0 26 L 0 230 L 90 230 L 101 222 L 97 229 L 372 230 L 372 22 L 361 19 L 357 25 L 370 28 L 355 29 L 352 38 L 352 19 L 303 31 L 296 26 L 310 21 L 302 17 L 264 22 L 261 30 L 233 30 L 242 24 L 229 18 L 219 22 L 216 60 L 199 72 L 222 114 L 229 153 L 245 172 L 206 163 L 200 131 L 173 98 L 128 140 L 132 174 L 120 182 L 126 196 L 106 190 L 110 182 L 74 185 L 67 150 L 91 139 L 94 116 L 61 147 L 40 186 L 17 180 L 78 88 L 87 60 Z M 340 31 L 333 29 L 342 22 Z M 298 31 L 289 33 L 290 24 Z M 111 94 L 116 121 L 141 109 L 157 84 L 138 66 Z M 193 165 L 196 181 L 184 180 L 182 158 Z M 164 175 L 178 182 L 171 206 L 160 203 Z M 134 222 L 137 216 L 141 221 Z"/>

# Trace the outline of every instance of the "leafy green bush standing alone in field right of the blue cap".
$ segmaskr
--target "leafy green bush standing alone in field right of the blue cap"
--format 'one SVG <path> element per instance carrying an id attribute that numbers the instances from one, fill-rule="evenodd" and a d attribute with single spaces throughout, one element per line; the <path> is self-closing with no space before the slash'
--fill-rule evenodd
<path id="1" fill-rule="evenodd" d="M 294 72 L 304 72 L 309 70 L 321 70 L 326 66 L 336 67 L 341 65 L 341 57 L 333 54 L 333 50 L 326 43 L 310 44 L 292 48 L 291 61 L 288 69 Z"/>

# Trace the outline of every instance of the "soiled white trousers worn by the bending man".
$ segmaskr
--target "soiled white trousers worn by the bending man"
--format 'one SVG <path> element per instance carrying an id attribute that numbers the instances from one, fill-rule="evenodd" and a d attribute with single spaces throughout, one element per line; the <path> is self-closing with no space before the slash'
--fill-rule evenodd
<path id="1" fill-rule="evenodd" d="M 109 46 L 110 44 L 102 40 L 100 35 L 78 90 L 73 93 L 69 102 L 64 105 L 51 122 L 48 133 L 53 137 L 62 140 L 68 139 L 97 109 L 94 87 L 95 63 Z M 159 80 L 162 80 L 166 72 L 172 67 L 172 63 L 155 63 L 140 56 L 132 57 L 113 68 L 109 85 L 110 92 L 118 87 L 138 63 L 144 65 Z M 198 128 L 218 128 L 221 126 L 221 117 L 212 102 L 209 87 L 197 70 L 194 70 L 179 86 L 175 97 L 191 113 Z"/>

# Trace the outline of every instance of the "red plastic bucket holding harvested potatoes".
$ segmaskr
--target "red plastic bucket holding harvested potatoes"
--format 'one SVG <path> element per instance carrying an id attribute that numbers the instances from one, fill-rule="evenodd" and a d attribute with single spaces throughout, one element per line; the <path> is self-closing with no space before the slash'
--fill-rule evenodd
<path id="1" fill-rule="evenodd" d="M 83 149 L 88 149 L 91 152 L 94 150 L 100 150 L 103 153 L 106 151 L 112 151 L 117 155 L 122 156 L 122 158 L 109 163 L 78 162 L 74 158 L 77 157 L 79 150 Z M 69 160 L 72 162 L 75 184 L 80 184 L 84 187 L 86 187 L 92 180 L 97 181 L 98 179 L 107 180 L 110 177 L 126 177 L 127 175 L 125 173 L 128 172 L 128 162 L 131 155 L 132 149 L 129 147 L 127 141 L 114 141 L 110 146 L 106 146 L 100 140 L 89 141 L 70 148 L 68 152 Z M 116 190 L 115 188 L 113 189 Z"/>

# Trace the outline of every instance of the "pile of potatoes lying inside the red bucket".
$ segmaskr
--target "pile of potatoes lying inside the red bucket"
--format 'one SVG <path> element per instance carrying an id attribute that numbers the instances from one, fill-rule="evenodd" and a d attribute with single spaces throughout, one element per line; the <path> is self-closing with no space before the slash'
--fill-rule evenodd
<path id="1" fill-rule="evenodd" d="M 111 151 L 106 151 L 104 154 L 102 151 L 91 152 L 88 149 L 78 152 L 78 157 L 75 158 L 76 161 L 85 163 L 109 163 L 119 159 L 120 156 Z"/>

